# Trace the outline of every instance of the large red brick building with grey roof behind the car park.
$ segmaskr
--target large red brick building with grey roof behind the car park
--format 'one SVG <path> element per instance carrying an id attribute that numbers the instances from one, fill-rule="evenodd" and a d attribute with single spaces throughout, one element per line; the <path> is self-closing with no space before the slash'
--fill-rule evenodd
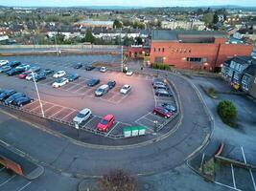
<path id="1" fill-rule="evenodd" d="M 153 31 L 151 63 L 183 69 L 221 71 L 222 63 L 234 55 L 250 55 L 252 45 L 227 44 L 226 32 Z"/>

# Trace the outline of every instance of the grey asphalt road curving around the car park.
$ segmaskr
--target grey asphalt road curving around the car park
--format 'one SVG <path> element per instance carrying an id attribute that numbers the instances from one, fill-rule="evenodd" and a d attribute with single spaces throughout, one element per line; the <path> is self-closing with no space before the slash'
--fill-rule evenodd
<path id="1" fill-rule="evenodd" d="M 172 136 L 153 144 L 124 150 L 93 149 L 49 135 L 13 118 L 1 118 L 0 139 L 68 173 L 93 176 L 117 168 L 132 174 L 166 171 L 183 163 L 210 132 L 209 118 L 191 84 L 181 76 L 170 74 L 168 77 L 177 88 L 183 117 Z"/>

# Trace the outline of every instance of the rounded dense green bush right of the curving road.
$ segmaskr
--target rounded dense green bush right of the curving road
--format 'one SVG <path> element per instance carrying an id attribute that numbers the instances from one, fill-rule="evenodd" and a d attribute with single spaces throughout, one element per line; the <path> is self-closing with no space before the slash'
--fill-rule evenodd
<path id="1" fill-rule="evenodd" d="M 223 100 L 219 103 L 217 108 L 218 114 L 222 121 L 231 126 L 235 127 L 237 122 L 237 108 L 229 100 Z"/>

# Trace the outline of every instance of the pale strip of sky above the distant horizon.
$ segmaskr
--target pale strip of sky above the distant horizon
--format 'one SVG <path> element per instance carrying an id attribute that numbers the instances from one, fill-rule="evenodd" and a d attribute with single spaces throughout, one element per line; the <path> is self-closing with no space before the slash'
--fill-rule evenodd
<path id="1" fill-rule="evenodd" d="M 128 6 L 128 7 L 197 7 L 237 5 L 256 7 L 256 0 L 0 0 L 2 6 L 12 7 L 75 7 L 75 6 Z"/>

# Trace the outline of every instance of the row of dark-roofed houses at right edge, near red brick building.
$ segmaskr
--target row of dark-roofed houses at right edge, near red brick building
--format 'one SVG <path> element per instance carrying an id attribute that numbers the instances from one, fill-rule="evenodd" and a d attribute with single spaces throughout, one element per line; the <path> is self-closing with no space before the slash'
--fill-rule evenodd
<path id="1" fill-rule="evenodd" d="M 221 75 L 236 90 L 242 90 L 256 98 L 256 57 L 235 56 L 223 63 Z"/>

